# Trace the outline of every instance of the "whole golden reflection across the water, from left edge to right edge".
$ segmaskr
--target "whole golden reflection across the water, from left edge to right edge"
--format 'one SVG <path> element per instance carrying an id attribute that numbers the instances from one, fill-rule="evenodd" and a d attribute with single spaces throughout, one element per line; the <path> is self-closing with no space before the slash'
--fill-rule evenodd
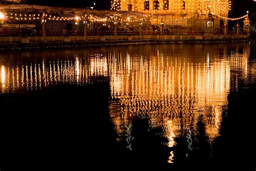
<path id="1" fill-rule="evenodd" d="M 112 47 L 111 47 L 112 48 Z M 18 61 L 1 66 L 2 92 L 37 90 L 57 84 L 110 83 L 110 117 L 118 141 L 132 149 L 132 121 L 146 118 L 150 129 L 162 128 L 166 145 L 186 137 L 193 149 L 204 125 L 208 141 L 220 135 L 227 95 L 238 90 L 239 79 L 256 78 L 250 47 L 242 45 L 139 45 L 99 47 L 61 58 Z M 85 53 L 86 52 L 86 53 Z M 44 53 L 44 52 L 43 52 Z M 250 64 L 249 64 L 250 63 Z M 173 162 L 173 152 L 168 162 Z"/>

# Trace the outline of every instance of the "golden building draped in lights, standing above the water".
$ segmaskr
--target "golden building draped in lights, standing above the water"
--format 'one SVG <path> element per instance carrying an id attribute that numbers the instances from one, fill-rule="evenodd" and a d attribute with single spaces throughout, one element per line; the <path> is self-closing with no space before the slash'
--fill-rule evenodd
<path id="1" fill-rule="evenodd" d="M 163 18 L 165 26 L 170 29 L 175 26 L 194 30 L 220 29 L 224 22 L 218 16 L 227 17 L 230 8 L 231 1 L 227 0 L 112 0 L 113 10 L 158 15 L 158 19 L 150 18 L 151 24 L 159 26 L 160 18 Z M 209 13 L 214 15 L 209 16 Z M 140 19 L 139 17 L 137 19 Z"/>

